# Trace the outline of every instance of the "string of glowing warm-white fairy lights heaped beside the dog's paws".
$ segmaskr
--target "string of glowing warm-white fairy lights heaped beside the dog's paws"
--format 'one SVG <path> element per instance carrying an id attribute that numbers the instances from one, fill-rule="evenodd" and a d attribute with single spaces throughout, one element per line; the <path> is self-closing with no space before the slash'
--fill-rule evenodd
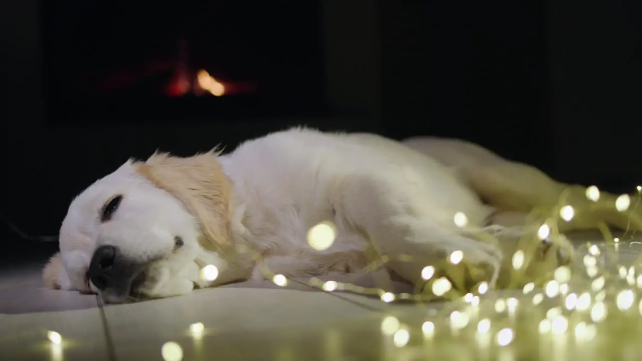
<path id="1" fill-rule="evenodd" d="M 598 202 L 600 190 L 596 186 L 586 188 L 586 198 Z M 633 209 L 642 199 L 641 186 L 637 188 L 636 198 Z M 620 195 L 612 207 L 623 213 L 631 209 L 631 204 L 630 195 Z M 564 204 L 562 197 L 560 204 L 552 209 L 536 210 L 535 213 L 539 213 L 533 219 L 539 223 L 530 227 L 539 240 L 545 240 L 559 235 L 559 222 L 571 222 L 579 211 L 586 209 Z M 468 224 L 464 213 L 456 213 L 453 222 L 462 228 Z M 488 281 L 464 288 L 464 281 L 456 279 L 462 277 L 462 272 L 453 272 L 465 259 L 462 251 L 452 252 L 443 263 L 426 265 L 421 270 L 425 285 L 413 294 L 314 277 L 309 286 L 322 292 L 343 291 L 379 297 L 385 303 L 421 301 L 416 304 L 436 310 L 426 312 L 421 323 L 415 322 L 416 317 L 413 322 L 404 322 L 394 315 L 382 316 L 379 331 L 384 342 L 390 342 L 399 352 L 429 353 L 437 359 L 454 358 L 454 355 L 476 360 L 564 360 L 571 355 L 588 360 L 627 359 L 636 354 L 632 350 L 642 351 L 642 342 L 636 336 L 642 331 L 639 259 L 629 266 L 618 261 L 620 247 L 632 244 L 633 234 L 629 229 L 620 239 L 614 238 L 605 224 L 598 224 L 596 228 L 602 231 L 606 242 L 586 242 L 576 249 L 572 263 L 542 274 L 537 280 L 519 279 L 525 277 L 523 270 L 533 260 L 531 253 L 535 250 L 518 249 L 510 257 L 512 270 L 508 288 L 512 290 L 489 292 L 492 286 Z M 516 230 L 516 234 L 524 234 L 524 229 Z M 493 242 L 497 234 L 492 229 L 485 231 L 489 231 L 485 240 Z M 309 229 L 308 244 L 316 251 L 324 251 L 331 247 L 336 234 L 332 222 L 321 222 Z M 255 256 L 257 262 L 262 263 L 259 254 Z M 381 255 L 366 271 L 385 267 L 393 259 Z M 397 259 L 412 261 L 410 256 Z M 278 286 L 288 285 L 288 277 L 273 274 L 266 265 L 262 266 L 266 279 Z M 211 282 L 218 277 L 218 272 L 213 265 L 207 265 L 202 268 L 201 277 Z M 523 286 L 516 288 L 519 284 Z M 437 300 L 452 302 L 438 309 L 425 302 Z M 191 324 L 188 332 L 200 339 L 207 328 L 198 322 Z M 62 337 L 54 331 L 49 331 L 48 337 L 53 346 L 62 343 Z M 461 346 L 464 340 L 472 346 L 453 346 Z M 176 342 L 164 344 L 161 354 L 166 361 L 180 361 L 183 357 L 182 348 Z"/>

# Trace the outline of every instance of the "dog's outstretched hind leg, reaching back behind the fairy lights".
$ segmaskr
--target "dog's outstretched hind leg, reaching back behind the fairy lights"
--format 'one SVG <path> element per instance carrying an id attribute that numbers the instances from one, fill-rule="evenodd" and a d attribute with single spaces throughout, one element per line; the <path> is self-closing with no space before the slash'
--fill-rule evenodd
<path id="1" fill-rule="evenodd" d="M 642 207 L 618 211 L 618 196 L 602 192 L 595 202 L 586 197 L 586 187 L 551 179 L 528 164 L 509 161 L 482 146 L 458 139 L 415 137 L 403 144 L 452 168 L 485 202 L 501 212 L 530 213 L 563 202 L 575 207 L 572 222 L 560 222 L 562 231 L 592 229 L 606 224 L 620 229 L 642 230 Z M 505 217 L 501 217 L 505 220 Z"/>

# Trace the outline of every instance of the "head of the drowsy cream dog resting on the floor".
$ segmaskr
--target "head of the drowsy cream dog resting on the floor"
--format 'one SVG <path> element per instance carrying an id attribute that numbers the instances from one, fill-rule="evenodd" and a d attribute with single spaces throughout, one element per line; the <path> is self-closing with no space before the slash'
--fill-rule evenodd
<path id="1" fill-rule="evenodd" d="M 89 186 L 69 206 L 46 282 L 119 303 L 186 294 L 207 284 L 205 265 L 221 281 L 239 277 L 221 252 L 231 243 L 230 183 L 216 156 L 155 154 Z"/>

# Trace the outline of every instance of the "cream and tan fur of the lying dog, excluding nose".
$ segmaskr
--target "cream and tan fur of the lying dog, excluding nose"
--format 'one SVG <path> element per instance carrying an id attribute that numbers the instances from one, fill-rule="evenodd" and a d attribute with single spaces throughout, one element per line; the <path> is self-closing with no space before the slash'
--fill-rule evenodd
<path id="1" fill-rule="evenodd" d="M 44 279 L 64 290 L 96 291 L 85 281 L 91 256 L 99 245 L 114 245 L 148 262 L 153 277 L 141 294 L 180 295 L 194 286 L 262 278 L 242 246 L 288 277 L 351 272 L 373 251 L 412 254 L 414 262 L 388 264 L 411 282 L 421 281 L 426 264 L 461 250 L 464 264 L 490 270 L 494 283 L 515 239 L 493 245 L 481 242 L 476 230 L 501 227 L 511 214 L 510 222 L 520 224 L 525 212 L 559 192 L 541 172 L 461 141 L 422 138 L 404 145 L 372 134 L 293 128 L 247 141 L 228 155 L 155 154 L 144 163 L 126 162 L 71 202 L 60 254 Z M 112 220 L 99 222 L 101 207 L 116 194 L 124 197 L 121 206 Z M 454 224 L 457 212 L 467 215 L 466 229 Z M 325 220 L 334 222 L 338 236 L 329 249 L 315 251 L 306 233 Z M 177 235 L 185 245 L 175 250 Z M 554 249 L 570 249 L 563 237 L 554 243 Z M 199 277 L 206 264 L 220 270 L 213 284 Z"/>

